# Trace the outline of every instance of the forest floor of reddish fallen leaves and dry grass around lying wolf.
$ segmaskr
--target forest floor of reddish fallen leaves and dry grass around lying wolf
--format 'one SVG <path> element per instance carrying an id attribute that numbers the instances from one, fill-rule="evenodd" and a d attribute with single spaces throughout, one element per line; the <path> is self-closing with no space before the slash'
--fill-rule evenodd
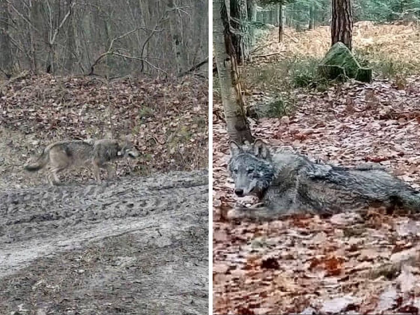
<path id="1" fill-rule="evenodd" d="M 382 51 L 401 68 L 403 62 L 417 62 L 420 30 L 415 26 L 365 24 L 354 30 L 355 50 L 365 40 L 371 52 L 379 56 Z M 420 188 L 420 68 L 417 74 L 391 79 L 375 72 L 371 84 L 349 81 L 326 89 L 291 89 L 293 79 L 279 65 L 302 55 L 323 55 L 328 32 L 324 27 L 308 32 L 287 29 L 281 44 L 272 43 L 276 32 L 257 46 L 287 52 L 254 58 L 242 69 L 246 103 L 260 107 L 283 94 L 293 99 L 293 106 L 278 117 L 248 118 L 253 134 L 333 164 L 377 162 Z M 399 40 L 392 39 L 396 34 Z M 392 55 L 382 45 L 385 39 L 404 50 L 396 47 Z M 406 59 L 409 56 L 413 59 Z M 289 84 L 281 85 L 287 80 Z M 213 311 L 418 314 L 420 222 L 415 217 L 370 208 L 330 218 L 315 215 L 265 223 L 226 218 L 237 199 L 226 171 L 228 135 L 217 91 L 214 100 Z"/>

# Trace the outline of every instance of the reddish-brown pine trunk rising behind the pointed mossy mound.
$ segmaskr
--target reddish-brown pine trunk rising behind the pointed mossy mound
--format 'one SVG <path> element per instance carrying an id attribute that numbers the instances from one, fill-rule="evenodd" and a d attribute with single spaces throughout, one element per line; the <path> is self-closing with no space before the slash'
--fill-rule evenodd
<path id="1" fill-rule="evenodd" d="M 352 29 L 351 0 L 332 0 L 331 45 L 342 42 L 352 50 Z"/>

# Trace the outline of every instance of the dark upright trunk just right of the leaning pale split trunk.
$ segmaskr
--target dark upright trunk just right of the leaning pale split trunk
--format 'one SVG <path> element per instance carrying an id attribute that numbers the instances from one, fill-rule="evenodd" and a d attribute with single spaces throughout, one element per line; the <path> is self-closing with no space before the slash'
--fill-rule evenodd
<path id="1" fill-rule="evenodd" d="M 237 21 L 231 20 L 231 26 L 237 30 L 233 35 L 233 45 L 236 50 L 236 60 L 239 64 L 244 64 L 249 60 L 249 34 L 248 34 L 248 14 L 246 0 L 230 0 L 231 14 Z"/>

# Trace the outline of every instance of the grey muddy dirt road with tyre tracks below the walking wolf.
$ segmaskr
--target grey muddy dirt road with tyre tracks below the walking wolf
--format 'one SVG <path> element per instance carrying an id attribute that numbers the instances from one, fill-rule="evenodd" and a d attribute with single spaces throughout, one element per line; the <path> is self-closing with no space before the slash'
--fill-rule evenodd
<path id="1" fill-rule="evenodd" d="M 0 191 L 0 314 L 205 314 L 208 174 Z"/>

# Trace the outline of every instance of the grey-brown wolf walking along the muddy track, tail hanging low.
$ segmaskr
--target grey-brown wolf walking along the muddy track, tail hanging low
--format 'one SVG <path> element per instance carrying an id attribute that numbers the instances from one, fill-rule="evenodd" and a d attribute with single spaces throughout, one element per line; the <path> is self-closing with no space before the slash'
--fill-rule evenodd
<path id="1" fill-rule="evenodd" d="M 26 165 L 27 171 L 35 172 L 49 168 L 47 180 L 50 185 L 59 184 L 58 173 L 71 166 L 91 166 L 96 181 L 100 184 L 99 169 L 107 170 L 108 178 L 115 176 L 115 168 L 109 162 L 122 157 L 138 156 L 137 150 L 128 141 L 101 139 L 96 141 L 59 141 L 48 145 L 34 164 Z"/>

